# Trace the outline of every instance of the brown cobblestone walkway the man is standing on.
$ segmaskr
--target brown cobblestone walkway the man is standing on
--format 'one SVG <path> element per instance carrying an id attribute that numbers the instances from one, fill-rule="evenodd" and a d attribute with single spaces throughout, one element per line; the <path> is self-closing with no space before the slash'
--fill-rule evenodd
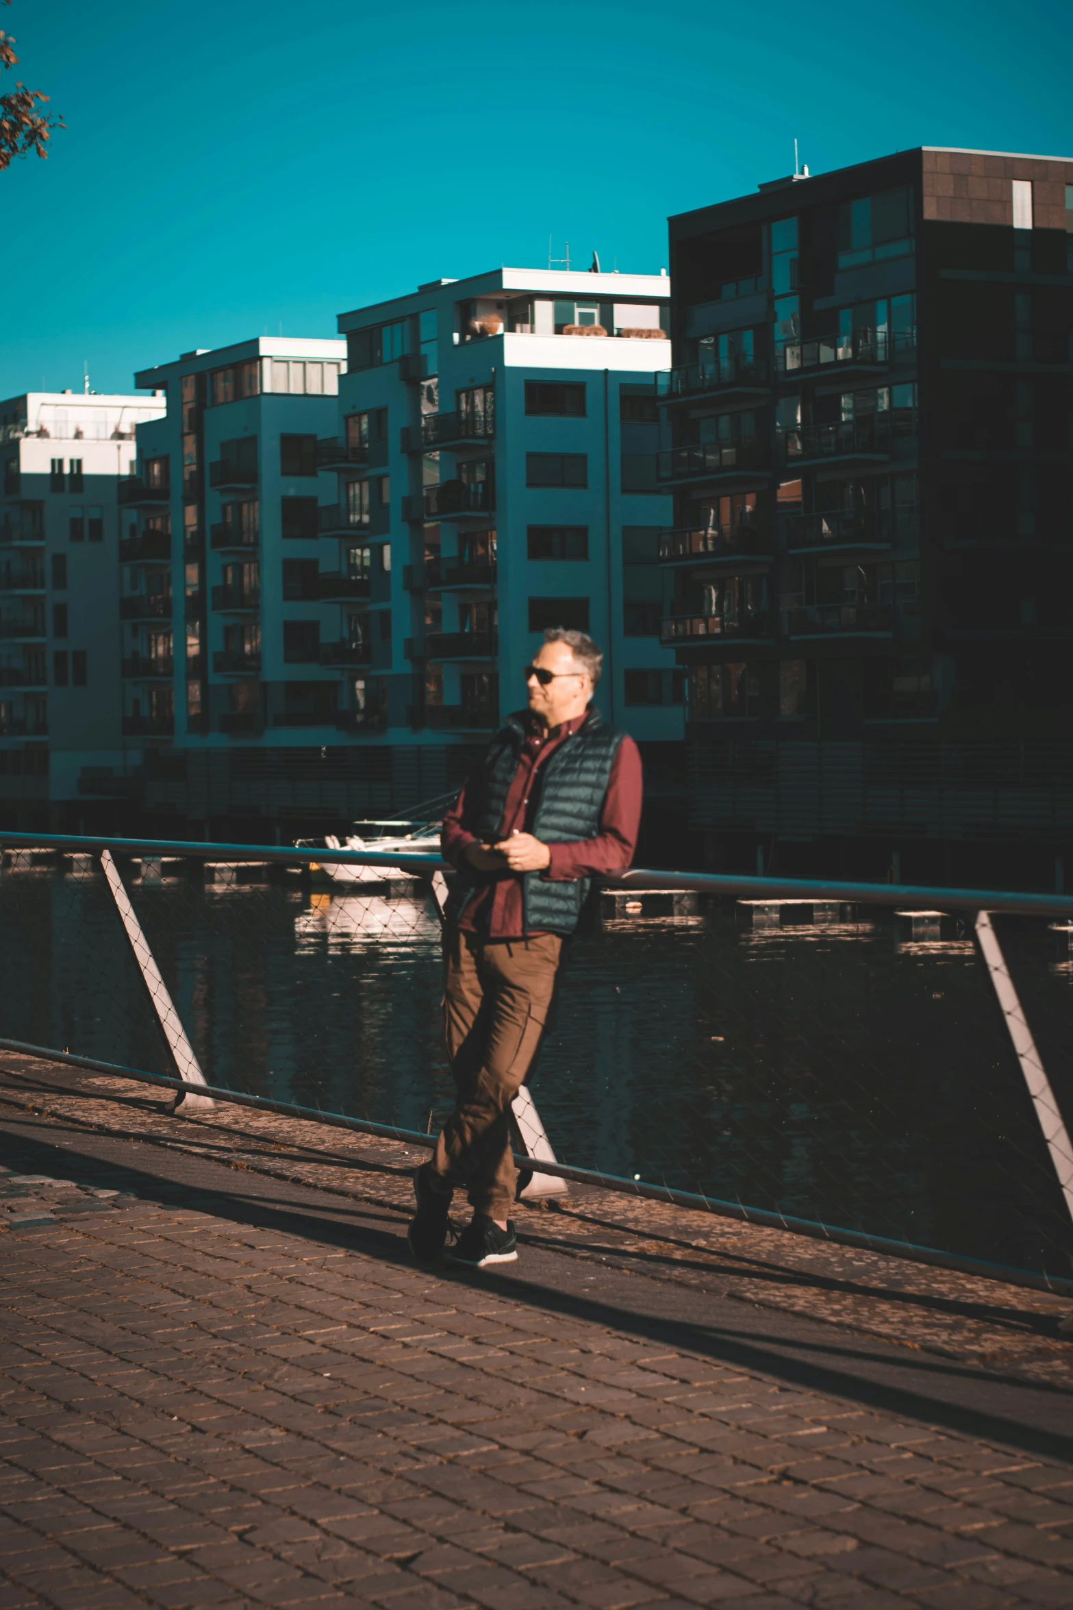
<path id="1" fill-rule="evenodd" d="M 1073 1605 L 1068 1302 L 3 1064 L 0 1610 Z"/>

